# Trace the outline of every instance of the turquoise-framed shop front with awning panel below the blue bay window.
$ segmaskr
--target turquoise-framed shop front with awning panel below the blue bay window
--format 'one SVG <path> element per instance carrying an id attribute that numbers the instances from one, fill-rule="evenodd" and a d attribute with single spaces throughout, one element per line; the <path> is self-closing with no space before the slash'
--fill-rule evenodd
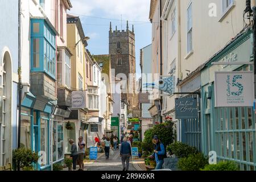
<path id="1" fill-rule="evenodd" d="M 54 105 L 27 93 L 22 101 L 20 147 L 39 153 L 38 170 L 51 170 L 51 123 Z"/>

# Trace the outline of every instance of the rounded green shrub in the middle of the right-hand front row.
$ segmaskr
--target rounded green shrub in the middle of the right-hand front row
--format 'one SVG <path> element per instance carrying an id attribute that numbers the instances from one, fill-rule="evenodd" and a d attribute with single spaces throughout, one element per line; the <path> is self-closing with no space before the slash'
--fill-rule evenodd
<path id="1" fill-rule="evenodd" d="M 200 171 L 208 164 L 208 159 L 201 153 L 188 155 L 187 158 L 179 159 L 177 167 L 181 171 Z"/>

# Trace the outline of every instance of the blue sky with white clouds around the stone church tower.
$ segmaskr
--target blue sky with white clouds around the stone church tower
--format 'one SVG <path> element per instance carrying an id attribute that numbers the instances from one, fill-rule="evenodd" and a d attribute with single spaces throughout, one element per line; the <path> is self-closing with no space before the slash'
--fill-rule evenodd
<path id="1" fill-rule="evenodd" d="M 129 20 L 130 30 L 134 24 L 136 71 L 139 67 L 140 49 L 151 43 L 151 23 L 148 19 L 150 0 L 71 0 L 73 8 L 69 14 L 80 16 L 85 36 L 89 36 L 88 49 L 93 55 L 109 53 L 109 23 L 112 28 L 126 30 Z"/>

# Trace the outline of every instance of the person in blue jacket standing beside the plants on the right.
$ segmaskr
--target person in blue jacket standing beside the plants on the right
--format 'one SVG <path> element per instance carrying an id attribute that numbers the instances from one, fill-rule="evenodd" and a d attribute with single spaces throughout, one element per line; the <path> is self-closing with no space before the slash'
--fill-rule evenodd
<path id="1" fill-rule="evenodd" d="M 154 153 L 150 156 L 150 158 L 155 158 L 155 169 L 162 169 L 164 158 L 166 158 L 166 150 L 164 148 L 163 143 L 160 141 L 157 135 L 154 136 L 152 142 L 154 144 L 155 150 Z"/>

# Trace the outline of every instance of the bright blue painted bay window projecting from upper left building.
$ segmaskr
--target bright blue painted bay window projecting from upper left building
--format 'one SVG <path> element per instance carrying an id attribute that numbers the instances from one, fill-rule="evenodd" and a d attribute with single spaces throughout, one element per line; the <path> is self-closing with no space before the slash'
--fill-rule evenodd
<path id="1" fill-rule="evenodd" d="M 34 32 L 39 23 L 39 32 Z M 39 39 L 39 67 L 34 67 L 34 40 Z M 44 72 L 56 80 L 56 34 L 44 19 L 31 19 L 31 72 Z"/>

